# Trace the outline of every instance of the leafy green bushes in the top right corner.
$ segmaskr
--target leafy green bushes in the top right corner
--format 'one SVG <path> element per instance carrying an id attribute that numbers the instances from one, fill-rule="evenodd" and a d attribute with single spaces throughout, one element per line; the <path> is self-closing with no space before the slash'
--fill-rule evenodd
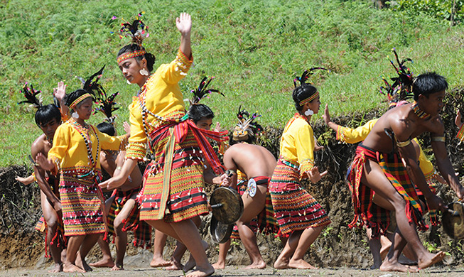
<path id="1" fill-rule="evenodd" d="M 439 19 L 462 22 L 464 18 L 464 1 L 460 0 L 399 0 L 390 1 L 390 8 L 396 11 L 404 11 L 412 16 L 427 14 Z"/>

